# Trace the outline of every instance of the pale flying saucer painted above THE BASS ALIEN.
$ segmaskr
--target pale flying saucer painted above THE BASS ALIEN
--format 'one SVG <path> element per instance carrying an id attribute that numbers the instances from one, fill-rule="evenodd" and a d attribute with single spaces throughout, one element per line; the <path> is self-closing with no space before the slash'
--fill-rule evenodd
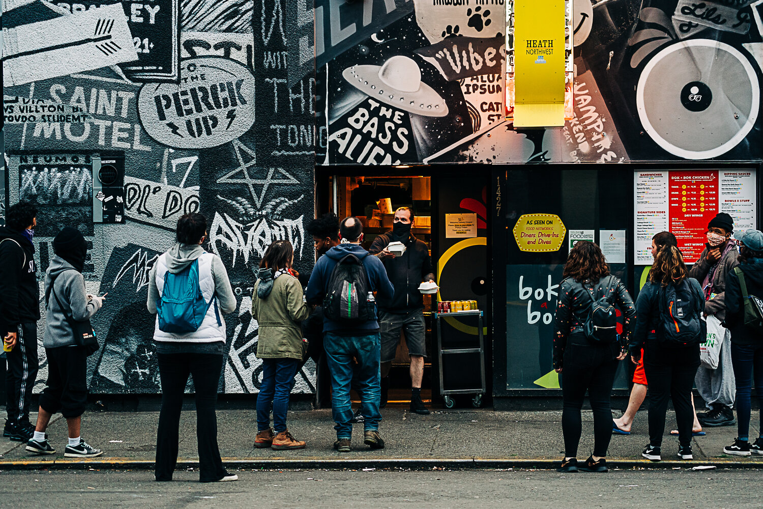
<path id="1" fill-rule="evenodd" d="M 397 55 L 383 66 L 352 66 L 342 76 L 356 89 L 386 105 L 425 117 L 445 117 L 448 105 L 421 82 L 421 70 L 408 56 Z"/>

